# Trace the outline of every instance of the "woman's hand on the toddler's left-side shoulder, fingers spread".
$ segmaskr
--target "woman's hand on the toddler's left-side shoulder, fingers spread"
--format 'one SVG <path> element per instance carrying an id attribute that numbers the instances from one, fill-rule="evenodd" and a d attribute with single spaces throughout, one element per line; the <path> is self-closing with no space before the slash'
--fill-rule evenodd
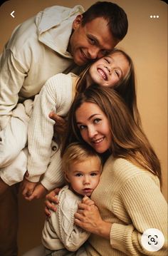
<path id="1" fill-rule="evenodd" d="M 47 217 L 51 216 L 51 211 L 53 210 L 54 212 L 56 212 L 56 205 L 58 205 L 59 200 L 56 197 L 56 195 L 58 195 L 59 191 L 61 190 L 61 188 L 55 188 L 55 190 L 52 190 L 50 193 L 48 193 L 46 195 L 46 200 L 45 200 L 45 213 Z"/>

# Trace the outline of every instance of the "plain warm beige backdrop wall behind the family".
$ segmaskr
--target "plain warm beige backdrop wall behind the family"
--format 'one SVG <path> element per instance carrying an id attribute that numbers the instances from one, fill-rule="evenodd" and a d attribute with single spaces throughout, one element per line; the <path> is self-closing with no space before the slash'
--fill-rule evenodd
<path id="1" fill-rule="evenodd" d="M 118 46 L 130 54 L 137 76 L 137 101 L 142 124 L 162 163 L 163 193 L 167 198 L 167 5 L 159 0 L 114 0 L 125 9 L 129 31 Z M 0 52 L 17 24 L 47 6 L 85 9 L 93 0 L 10 0 L 0 7 Z M 10 15 L 15 11 L 15 18 Z M 151 19 L 150 15 L 159 15 Z M 40 242 L 43 200 L 19 200 L 19 250 L 25 252 Z"/>

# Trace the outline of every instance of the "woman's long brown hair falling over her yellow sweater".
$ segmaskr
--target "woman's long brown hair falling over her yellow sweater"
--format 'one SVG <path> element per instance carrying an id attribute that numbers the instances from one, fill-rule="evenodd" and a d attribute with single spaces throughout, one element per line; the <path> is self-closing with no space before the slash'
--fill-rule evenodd
<path id="1" fill-rule="evenodd" d="M 85 102 L 97 104 L 107 116 L 112 133 L 112 143 L 109 148 L 112 156 L 125 158 L 140 168 L 157 175 L 162 185 L 161 167 L 157 155 L 142 128 L 132 118 L 125 102 L 112 88 L 93 85 L 75 97 L 68 114 L 62 154 L 70 143 L 84 142 L 76 125 L 75 112 Z"/>

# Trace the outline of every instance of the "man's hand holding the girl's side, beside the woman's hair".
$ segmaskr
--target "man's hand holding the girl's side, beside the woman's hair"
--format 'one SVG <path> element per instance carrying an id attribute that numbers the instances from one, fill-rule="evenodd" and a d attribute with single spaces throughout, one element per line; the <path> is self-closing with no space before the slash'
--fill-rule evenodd
<path id="1" fill-rule="evenodd" d="M 54 133 L 59 136 L 62 136 L 64 134 L 65 131 L 65 126 L 66 126 L 66 121 L 64 118 L 62 118 L 61 116 L 58 116 L 56 113 L 51 112 L 49 113 L 49 118 L 53 119 L 53 121 L 55 121 L 55 125 L 54 125 Z"/>

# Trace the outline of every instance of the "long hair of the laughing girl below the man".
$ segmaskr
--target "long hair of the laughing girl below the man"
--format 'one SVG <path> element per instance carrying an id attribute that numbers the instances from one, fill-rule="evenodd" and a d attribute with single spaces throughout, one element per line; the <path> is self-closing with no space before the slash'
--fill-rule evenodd
<path id="1" fill-rule="evenodd" d="M 135 68 L 134 64 L 132 62 L 132 59 L 130 56 L 125 53 L 125 51 L 122 51 L 120 49 L 114 48 L 111 52 L 111 54 L 115 53 L 120 53 L 125 58 L 127 59 L 127 62 L 129 64 L 129 70 L 115 86 L 112 88 L 117 91 L 117 93 L 123 98 L 125 101 L 127 107 L 130 109 L 130 113 L 132 114 L 132 117 L 135 119 L 135 122 L 138 125 L 141 125 L 141 120 L 140 120 L 140 113 L 137 108 L 137 94 L 136 94 L 136 86 L 135 86 Z M 90 64 L 91 65 L 91 64 Z M 87 74 L 90 68 L 90 65 L 85 68 L 85 70 L 80 73 L 78 83 L 76 85 L 76 91 L 77 93 L 81 93 L 85 91 L 86 88 L 86 79 L 87 79 Z"/>

